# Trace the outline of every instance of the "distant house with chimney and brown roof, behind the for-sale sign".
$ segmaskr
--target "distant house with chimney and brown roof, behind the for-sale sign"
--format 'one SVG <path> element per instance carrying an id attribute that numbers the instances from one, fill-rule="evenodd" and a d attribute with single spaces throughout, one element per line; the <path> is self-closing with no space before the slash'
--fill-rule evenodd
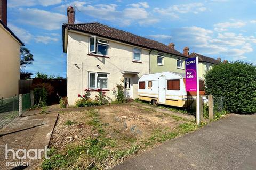
<path id="1" fill-rule="evenodd" d="M 201 77 L 203 79 L 204 79 L 204 75 L 205 75 L 206 71 L 210 70 L 213 65 L 220 63 L 220 60 L 217 60 L 217 59 L 214 59 L 211 57 L 206 57 L 202 54 L 198 54 L 195 52 L 189 54 L 188 47 L 185 47 L 183 49 L 183 54 L 190 58 L 198 57 L 199 77 Z"/>

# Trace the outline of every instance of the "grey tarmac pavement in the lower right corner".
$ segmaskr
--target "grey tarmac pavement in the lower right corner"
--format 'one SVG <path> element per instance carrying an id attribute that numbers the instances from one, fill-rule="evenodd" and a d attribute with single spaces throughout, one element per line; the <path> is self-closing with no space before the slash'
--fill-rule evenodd
<path id="1" fill-rule="evenodd" d="M 256 169 L 256 115 L 230 114 L 114 169 Z"/>

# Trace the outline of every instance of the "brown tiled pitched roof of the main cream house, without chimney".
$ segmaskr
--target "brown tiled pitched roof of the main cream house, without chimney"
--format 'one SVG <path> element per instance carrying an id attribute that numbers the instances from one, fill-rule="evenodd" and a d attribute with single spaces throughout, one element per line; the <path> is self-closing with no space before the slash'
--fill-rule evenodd
<path id="1" fill-rule="evenodd" d="M 62 30 L 64 29 L 90 33 L 96 36 L 101 36 L 101 37 L 113 39 L 116 41 L 121 41 L 123 43 L 188 58 L 187 56 L 183 55 L 177 50 L 171 49 L 169 46 L 163 43 L 159 43 L 157 41 L 154 41 L 148 38 L 137 36 L 126 31 L 118 30 L 116 28 L 112 28 L 97 22 L 83 23 L 83 24 L 64 24 L 62 25 Z"/>

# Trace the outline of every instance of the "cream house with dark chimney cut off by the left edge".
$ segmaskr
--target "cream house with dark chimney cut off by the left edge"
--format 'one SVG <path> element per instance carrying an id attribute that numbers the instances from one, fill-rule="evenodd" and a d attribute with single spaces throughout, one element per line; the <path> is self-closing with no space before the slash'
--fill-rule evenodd
<path id="1" fill-rule="evenodd" d="M 7 27 L 7 0 L 0 0 L 0 97 L 18 95 L 22 41 Z"/>

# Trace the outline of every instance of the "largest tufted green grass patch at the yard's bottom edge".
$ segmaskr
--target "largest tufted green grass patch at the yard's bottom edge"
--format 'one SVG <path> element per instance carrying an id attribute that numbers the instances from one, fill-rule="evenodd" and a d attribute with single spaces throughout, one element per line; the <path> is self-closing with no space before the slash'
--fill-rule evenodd
<path id="1" fill-rule="evenodd" d="M 108 163 L 135 154 L 140 146 L 126 150 L 111 150 L 109 138 L 88 138 L 82 145 L 70 145 L 62 153 L 55 152 L 45 159 L 42 169 L 103 169 Z M 106 142 L 108 141 L 108 142 Z M 110 142 L 111 143 L 111 142 Z"/>

